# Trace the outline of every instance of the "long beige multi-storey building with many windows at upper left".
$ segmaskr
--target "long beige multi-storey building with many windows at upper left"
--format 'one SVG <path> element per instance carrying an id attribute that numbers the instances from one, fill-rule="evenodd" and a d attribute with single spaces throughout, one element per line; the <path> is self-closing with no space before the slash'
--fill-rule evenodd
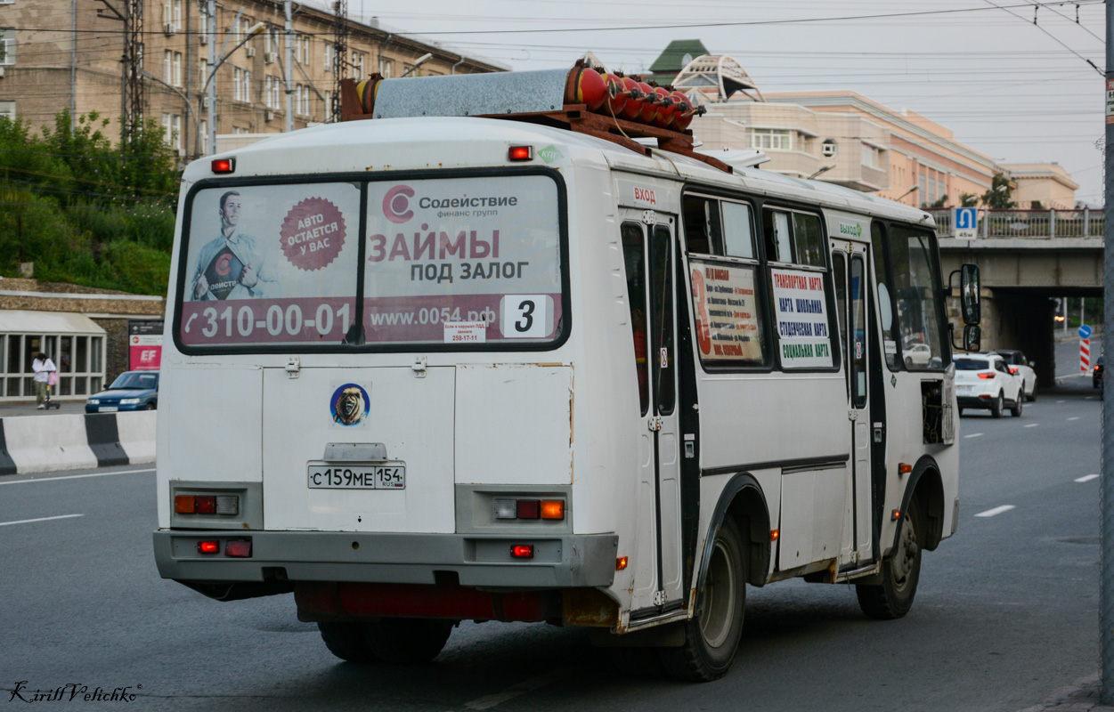
<path id="1" fill-rule="evenodd" d="M 163 126 L 183 157 L 208 153 L 209 43 L 218 58 L 216 133 L 270 134 L 286 126 L 286 33 L 283 3 L 237 0 L 216 3 L 216 35 L 207 32 L 197 0 L 0 0 L 0 115 L 32 126 L 53 125 L 55 115 L 97 111 L 113 119 L 115 140 L 124 113 L 124 22 L 133 2 L 143 10 L 144 115 Z M 291 96 L 293 128 L 331 120 L 336 90 L 334 17 L 305 4 L 292 18 Z M 256 23 L 265 30 L 251 37 Z M 466 56 L 401 30 L 349 22 L 348 67 L 364 78 L 504 71 L 509 67 Z M 416 68 L 427 53 L 431 58 Z M 408 75 L 408 72 L 410 72 Z"/>

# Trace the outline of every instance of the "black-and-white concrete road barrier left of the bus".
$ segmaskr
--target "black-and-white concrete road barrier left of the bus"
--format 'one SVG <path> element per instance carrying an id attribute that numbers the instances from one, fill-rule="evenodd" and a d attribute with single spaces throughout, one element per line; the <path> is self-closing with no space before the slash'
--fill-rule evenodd
<path id="1" fill-rule="evenodd" d="M 0 475 L 154 462 L 156 412 L 0 418 Z"/>

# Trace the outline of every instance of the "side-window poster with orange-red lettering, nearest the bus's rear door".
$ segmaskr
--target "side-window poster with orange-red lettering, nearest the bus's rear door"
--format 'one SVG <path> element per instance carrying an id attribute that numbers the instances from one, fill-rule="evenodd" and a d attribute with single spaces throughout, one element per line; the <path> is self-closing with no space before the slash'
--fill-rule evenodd
<path id="1" fill-rule="evenodd" d="M 762 361 L 754 270 L 693 263 L 696 341 L 705 361 Z"/>

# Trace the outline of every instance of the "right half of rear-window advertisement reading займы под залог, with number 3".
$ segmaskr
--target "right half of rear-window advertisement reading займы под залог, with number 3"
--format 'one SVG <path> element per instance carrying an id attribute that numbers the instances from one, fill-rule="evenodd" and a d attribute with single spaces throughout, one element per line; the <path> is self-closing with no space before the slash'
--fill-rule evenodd
<path id="1" fill-rule="evenodd" d="M 557 339 L 557 186 L 547 176 L 368 185 L 368 344 Z"/>

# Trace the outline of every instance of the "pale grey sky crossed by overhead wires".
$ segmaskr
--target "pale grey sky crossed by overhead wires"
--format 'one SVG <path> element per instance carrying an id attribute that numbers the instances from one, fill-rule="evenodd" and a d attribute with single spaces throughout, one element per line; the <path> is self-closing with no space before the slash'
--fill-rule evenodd
<path id="1" fill-rule="evenodd" d="M 670 41 L 700 39 L 763 92 L 857 91 L 998 163 L 1057 162 L 1081 185 L 1077 201 L 1103 202 L 1102 0 L 348 2 L 354 20 L 519 70 L 569 67 L 592 50 L 637 72 Z"/>

